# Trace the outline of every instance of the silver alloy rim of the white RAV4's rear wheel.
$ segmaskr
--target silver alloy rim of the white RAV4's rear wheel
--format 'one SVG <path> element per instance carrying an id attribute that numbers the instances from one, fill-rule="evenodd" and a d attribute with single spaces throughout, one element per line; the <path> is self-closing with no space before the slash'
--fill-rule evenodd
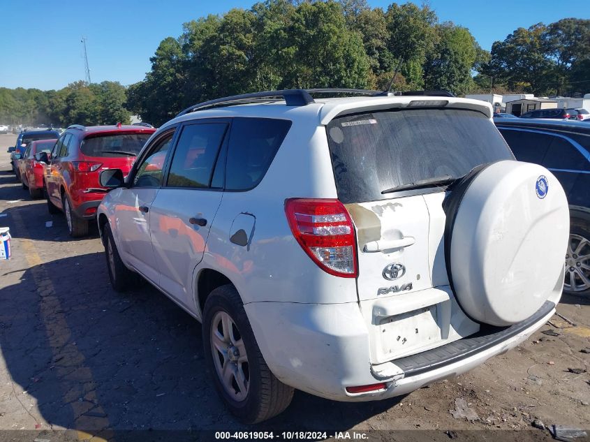
<path id="1" fill-rule="evenodd" d="M 236 402 L 244 401 L 250 388 L 248 355 L 242 334 L 226 311 L 215 314 L 209 336 L 215 371 L 223 390 Z"/>

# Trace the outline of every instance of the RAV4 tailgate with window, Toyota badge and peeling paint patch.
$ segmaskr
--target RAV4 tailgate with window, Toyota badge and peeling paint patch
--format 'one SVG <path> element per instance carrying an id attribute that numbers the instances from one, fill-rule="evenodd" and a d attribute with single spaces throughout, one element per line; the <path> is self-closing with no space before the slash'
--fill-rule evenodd
<path id="1" fill-rule="evenodd" d="M 513 159 L 492 121 L 477 110 L 395 108 L 336 117 L 327 138 L 338 197 L 355 224 L 372 362 L 477 332 L 448 285 L 443 199 L 475 166 Z"/>

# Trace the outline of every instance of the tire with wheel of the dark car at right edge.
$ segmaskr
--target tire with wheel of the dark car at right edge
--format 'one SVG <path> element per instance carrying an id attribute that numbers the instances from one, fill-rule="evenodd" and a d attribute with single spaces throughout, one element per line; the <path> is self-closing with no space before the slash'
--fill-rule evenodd
<path id="1" fill-rule="evenodd" d="M 568 295 L 590 296 L 590 214 L 575 210 L 570 216 L 563 292 Z M 572 278 L 574 286 L 571 283 Z"/>

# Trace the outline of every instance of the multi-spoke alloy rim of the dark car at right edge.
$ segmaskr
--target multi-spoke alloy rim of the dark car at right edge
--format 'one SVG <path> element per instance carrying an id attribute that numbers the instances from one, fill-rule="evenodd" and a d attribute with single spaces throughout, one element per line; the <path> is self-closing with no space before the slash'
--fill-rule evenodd
<path id="1" fill-rule="evenodd" d="M 573 233 L 568 242 L 563 288 L 570 292 L 583 292 L 590 288 L 590 241 Z"/>

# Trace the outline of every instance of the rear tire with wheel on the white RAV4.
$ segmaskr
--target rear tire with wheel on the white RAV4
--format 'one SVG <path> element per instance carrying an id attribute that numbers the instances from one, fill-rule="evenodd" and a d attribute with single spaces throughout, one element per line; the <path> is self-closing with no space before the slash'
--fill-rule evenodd
<path id="1" fill-rule="evenodd" d="M 228 318 L 225 326 L 224 318 Z M 289 406 L 293 388 L 281 383 L 268 368 L 242 300 L 233 286 L 216 288 L 207 297 L 203 309 L 202 337 L 207 368 L 215 388 L 239 420 L 255 424 L 278 415 Z M 218 351 L 213 341 L 221 348 L 226 345 L 225 353 Z M 243 351 L 246 360 L 240 362 Z M 225 367 L 230 369 L 228 381 L 222 378 Z M 236 375 L 242 378 L 242 388 L 238 386 Z"/>

